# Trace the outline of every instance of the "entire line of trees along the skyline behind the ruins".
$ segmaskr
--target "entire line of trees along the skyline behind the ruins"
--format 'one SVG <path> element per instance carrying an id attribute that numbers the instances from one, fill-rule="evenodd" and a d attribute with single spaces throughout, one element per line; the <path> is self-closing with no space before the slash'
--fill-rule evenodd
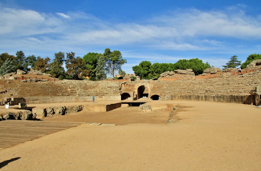
<path id="1" fill-rule="evenodd" d="M 238 56 L 230 57 L 226 68 L 236 68 L 240 66 L 241 69 L 246 68 L 253 60 L 261 59 L 261 54 L 251 54 L 247 57 L 246 62 L 241 64 Z M 126 59 L 122 58 L 120 51 L 112 51 L 109 48 L 104 50 L 104 53 L 89 52 L 83 58 L 75 57 L 74 52 L 54 53 L 54 59 L 49 57 L 41 58 L 34 55 L 26 57 L 23 51 L 17 51 L 16 56 L 2 53 L 0 55 L 0 75 L 10 72 L 15 72 L 17 69 L 28 73 L 31 69 L 39 70 L 41 72 L 51 74 L 53 77 L 62 79 L 82 80 L 88 78 L 92 81 L 99 81 L 106 79 L 107 74 L 115 76 L 116 72 L 124 75 L 125 72 L 121 66 L 127 63 Z M 65 66 L 65 68 L 64 68 Z M 202 74 L 207 68 L 211 68 L 208 62 L 203 63 L 198 58 L 194 59 L 180 59 L 176 63 L 154 63 L 150 61 L 142 61 L 139 65 L 133 66 L 132 69 L 141 79 L 158 78 L 161 73 L 166 71 L 174 71 L 177 69 L 186 70 L 192 69 L 195 75 Z"/>

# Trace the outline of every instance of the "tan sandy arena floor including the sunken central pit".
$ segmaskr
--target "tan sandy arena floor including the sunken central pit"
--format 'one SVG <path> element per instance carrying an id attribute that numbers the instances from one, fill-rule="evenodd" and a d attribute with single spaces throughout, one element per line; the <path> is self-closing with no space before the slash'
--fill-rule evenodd
<path id="1" fill-rule="evenodd" d="M 169 112 L 137 112 L 137 107 L 47 118 L 117 126 L 82 124 L 0 150 L 0 170 L 260 170 L 260 108 L 150 103 L 188 108 L 177 111 L 171 124 L 165 124 Z"/>

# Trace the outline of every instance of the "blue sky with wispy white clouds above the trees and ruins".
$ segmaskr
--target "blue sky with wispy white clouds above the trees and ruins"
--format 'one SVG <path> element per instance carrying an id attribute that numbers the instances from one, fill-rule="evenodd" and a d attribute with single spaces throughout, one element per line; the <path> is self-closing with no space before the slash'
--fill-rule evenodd
<path id="1" fill-rule="evenodd" d="M 199 58 L 222 68 L 261 53 L 261 1 L 0 0 L 0 53 L 119 50 L 126 73 L 143 60 Z"/>

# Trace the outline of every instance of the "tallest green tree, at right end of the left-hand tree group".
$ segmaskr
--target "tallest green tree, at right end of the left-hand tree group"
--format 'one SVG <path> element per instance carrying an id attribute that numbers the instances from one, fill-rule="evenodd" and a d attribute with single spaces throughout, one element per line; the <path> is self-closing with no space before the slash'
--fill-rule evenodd
<path id="1" fill-rule="evenodd" d="M 122 59 L 120 51 L 113 51 L 109 48 L 106 48 L 103 53 L 103 57 L 105 59 L 105 70 L 107 74 L 110 74 L 115 77 L 115 72 L 121 69 L 121 66 L 124 63 L 127 63 L 126 59 Z"/>

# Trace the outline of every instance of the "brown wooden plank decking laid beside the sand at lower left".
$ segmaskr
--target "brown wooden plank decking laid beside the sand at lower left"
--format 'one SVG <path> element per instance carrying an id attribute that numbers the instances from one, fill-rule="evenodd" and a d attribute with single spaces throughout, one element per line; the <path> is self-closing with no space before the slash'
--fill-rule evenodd
<path id="1" fill-rule="evenodd" d="M 79 122 L 0 121 L 0 150 L 80 125 Z"/>

